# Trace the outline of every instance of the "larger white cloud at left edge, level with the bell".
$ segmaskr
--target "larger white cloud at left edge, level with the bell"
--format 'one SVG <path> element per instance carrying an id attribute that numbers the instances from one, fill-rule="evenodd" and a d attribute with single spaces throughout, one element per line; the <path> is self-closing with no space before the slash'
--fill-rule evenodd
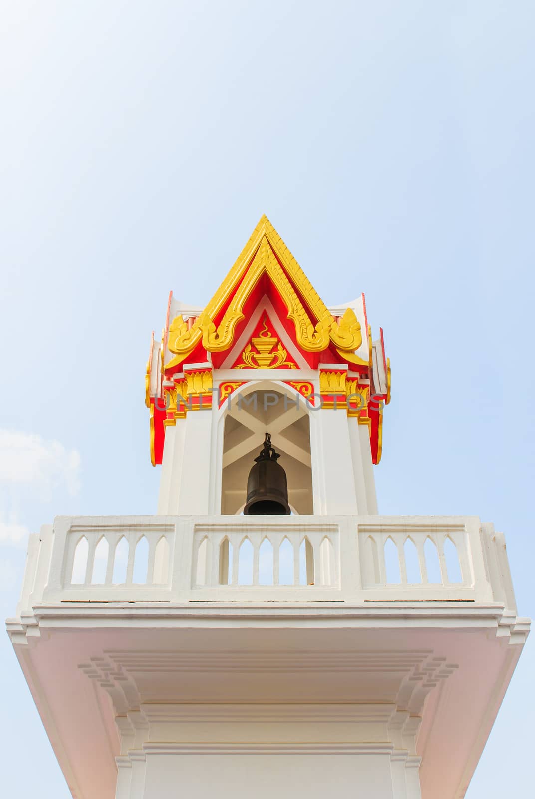
<path id="1" fill-rule="evenodd" d="M 66 487 L 70 495 L 80 490 L 80 455 L 57 441 L 10 430 L 0 430 L 0 484 L 31 486 L 42 498 L 55 487 Z"/>

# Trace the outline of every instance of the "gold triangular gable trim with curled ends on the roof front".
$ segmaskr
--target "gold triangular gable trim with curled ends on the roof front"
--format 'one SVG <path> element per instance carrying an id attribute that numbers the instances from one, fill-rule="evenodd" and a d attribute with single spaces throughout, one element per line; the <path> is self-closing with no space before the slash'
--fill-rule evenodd
<path id="1" fill-rule="evenodd" d="M 275 287 L 299 348 L 314 353 L 330 348 L 350 364 L 367 364 L 355 353 L 367 331 L 361 331 L 353 308 L 347 308 L 341 317 L 331 314 L 264 215 L 204 311 L 194 320 L 184 320 L 181 314 L 169 320 L 164 344 L 172 357 L 165 370 L 178 367 L 200 348 L 228 351 L 260 280 Z"/>

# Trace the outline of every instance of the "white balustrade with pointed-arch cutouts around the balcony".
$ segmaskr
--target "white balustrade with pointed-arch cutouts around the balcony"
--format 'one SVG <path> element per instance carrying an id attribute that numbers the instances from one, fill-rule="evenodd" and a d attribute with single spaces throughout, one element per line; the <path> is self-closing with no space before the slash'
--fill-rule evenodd
<path id="1" fill-rule="evenodd" d="M 30 537 L 42 602 L 500 602 L 501 533 L 475 517 L 59 517 Z"/>

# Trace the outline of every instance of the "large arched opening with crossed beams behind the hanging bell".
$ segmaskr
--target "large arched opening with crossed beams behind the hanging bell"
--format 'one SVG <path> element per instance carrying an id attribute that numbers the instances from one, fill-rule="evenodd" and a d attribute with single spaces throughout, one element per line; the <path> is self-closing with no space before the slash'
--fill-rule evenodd
<path id="1" fill-rule="evenodd" d="M 235 515 L 244 507 L 249 471 L 269 432 L 286 472 L 291 508 L 299 515 L 312 515 L 310 419 L 305 398 L 289 386 L 263 380 L 232 396 L 222 423 L 221 513 Z"/>

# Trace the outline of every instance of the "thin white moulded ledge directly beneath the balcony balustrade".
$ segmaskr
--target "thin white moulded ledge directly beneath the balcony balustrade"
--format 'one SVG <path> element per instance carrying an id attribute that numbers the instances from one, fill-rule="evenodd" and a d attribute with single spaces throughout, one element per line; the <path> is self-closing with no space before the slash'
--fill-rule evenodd
<path id="1" fill-rule="evenodd" d="M 307 602 L 284 605 L 232 606 L 223 602 L 61 602 L 40 605 L 21 619 L 8 619 L 7 632 L 14 646 L 24 646 L 54 628 L 92 629 L 117 627 L 152 629 L 193 626 L 213 627 L 224 622 L 240 628 L 284 627 L 300 622 L 317 627 L 491 629 L 509 644 L 522 645 L 529 634 L 529 618 L 517 616 L 503 605 L 475 602 Z"/>

